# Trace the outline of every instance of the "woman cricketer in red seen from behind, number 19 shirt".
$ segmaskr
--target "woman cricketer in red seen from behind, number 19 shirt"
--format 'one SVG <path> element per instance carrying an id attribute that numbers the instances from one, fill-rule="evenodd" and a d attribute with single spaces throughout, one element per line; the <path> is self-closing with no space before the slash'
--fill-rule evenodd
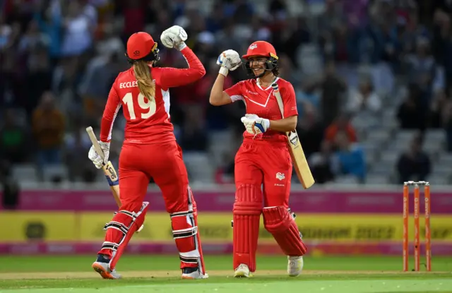
<path id="1" fill-rule="evenodd" d="M 88 157 L 100 169 L 108 161 L 114 119 L 123 107 L 126 118 L 124 143 L 119 156 L 121 208 L 106 225 L 93 268 L 105 279 L 121 277 L 115 265 L 129 240 L 144 222 L 148 208 L 143 202 L 150 178 L 159 186 L 171 217 L 172 234 L 179 250 L 182 277 L 203 279 L 203 252 L 197 227 L 196 203 L 189 187 L 182 150 L 169 121 L 169 88 L 186 85 L 206 74 L 198 57 L 186 46 L 186 32 L 174 25 L 162 32 L 165 47 L 179 49 L 189 68 L 155 67 L 159 60 L 157 42 L 146 32 L 137 32 L 127 42 L 127 59 L 132 65 L 119 73 L 109 92 L 100 128 L 100 145 L 105 160 L 90 149 Z M 152 224 L 151 224 L 152 225 Z"/>

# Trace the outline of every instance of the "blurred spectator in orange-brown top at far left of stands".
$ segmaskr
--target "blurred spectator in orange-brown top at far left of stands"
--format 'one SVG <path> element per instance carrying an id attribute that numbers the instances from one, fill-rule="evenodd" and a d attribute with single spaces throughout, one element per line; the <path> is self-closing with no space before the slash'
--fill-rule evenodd
<path id="1" fill-rule="evenodd" d="M 33 112 L 32 130 L 37 142 L 38 167 L 61 163 L 65 121 L 55 107 L 52 92 L 44 92 L 40 105 Z"/>

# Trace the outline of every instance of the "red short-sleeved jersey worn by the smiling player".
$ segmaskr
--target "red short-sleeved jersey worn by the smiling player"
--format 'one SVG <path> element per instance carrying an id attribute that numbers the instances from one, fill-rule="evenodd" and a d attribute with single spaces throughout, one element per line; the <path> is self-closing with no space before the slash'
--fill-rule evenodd
<path id="1" fill-rule="evenodd" d="M 298 115 L 297 100 L 295 98 L 295 90 L 291 83 L 283 78 L 276 78 L 281 97 L 284 103 L 284 118 Z M 225 90 L 227 95 L 231 97 L 232 102 L 242 100 L 246 105 L 246 114 L 256 114 L 261 118 L 270 120 L 279 120 L 281 116 L 280 108 L 271 85 L 268 88 L 262 88 L 256 79 L 242 80 L 231 88 Z M 254 134 L 244 131 L 244 138 L 254 138 Z M 256 136 L 255 139 L 260 140 L 278 140 L 287 141 L 285 133 L 278 131 L 266 131 Z"/>

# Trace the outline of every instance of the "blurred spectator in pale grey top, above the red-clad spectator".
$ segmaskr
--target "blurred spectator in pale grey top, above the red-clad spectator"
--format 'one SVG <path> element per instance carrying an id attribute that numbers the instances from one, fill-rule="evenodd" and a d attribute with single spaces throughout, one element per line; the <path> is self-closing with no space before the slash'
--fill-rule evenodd
<path id="1" fill-rule="evenodd" d="M 362 81 L 358 90 L 350 90 L 346 109 L 353 115 L 352 125 L 355 129 L 369 130 L 379 126 L 381 99 L 369 78 Z"/>

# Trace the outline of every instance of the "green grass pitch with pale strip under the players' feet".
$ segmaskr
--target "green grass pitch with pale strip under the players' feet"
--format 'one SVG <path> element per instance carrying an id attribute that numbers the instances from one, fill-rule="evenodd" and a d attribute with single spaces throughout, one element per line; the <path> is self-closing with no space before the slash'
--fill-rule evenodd
<path id="1" fill-rule="evenodd" d="M 122 280 L 102 280 L 90 268 L 93 261 L 93 256 L 2 256 L 0 292 L 452 293 L 452 258 L 439 256 L 430 273 L 401 272 L 401 257 L 305 256 L 299 277 L 286 275 L 284 256 L 260 256 L 249 279 L 232 277 L 232 256 L 206 256 L 207 280 L 180 280 L 177 256 L 124 256 L 117 265 Z"/>

